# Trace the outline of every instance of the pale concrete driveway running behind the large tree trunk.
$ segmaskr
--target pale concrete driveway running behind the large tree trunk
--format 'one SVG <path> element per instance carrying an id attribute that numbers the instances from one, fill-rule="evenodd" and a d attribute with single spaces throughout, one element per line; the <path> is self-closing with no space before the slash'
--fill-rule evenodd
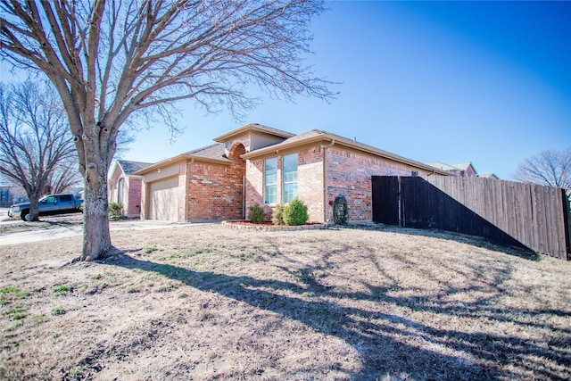
<path id="1" fill-rule="evenodd" d="M 109 228 L 111 231 L 136 229 L 136 230 L 150 230 L 157 228 L 173 228 L 181 225 L 187 225 L 190 222 L 171 222 L 171 221 L 157 221 L 154 219 L 134 219 L 120 222 L 110 222 Z M 9 233 L 0 235 L 0 246 L 4 244 L 23 244 L 26 242 L 45 241 L 46 239 L 64 238 L 68 236 L 79 236 L 83 234 L 83 226 L 75 225 L 68 228 L 50 228 L 22 231 L 18 233 Z"/>

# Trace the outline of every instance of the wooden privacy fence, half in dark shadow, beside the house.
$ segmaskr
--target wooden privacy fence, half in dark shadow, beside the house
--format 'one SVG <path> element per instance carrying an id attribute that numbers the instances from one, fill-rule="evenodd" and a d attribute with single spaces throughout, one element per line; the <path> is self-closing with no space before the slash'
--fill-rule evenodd
<path id="1" fill-rule="evenodd" d="M 571 260 L 565 190 L 492 178 L 373 176 L 373 220 L 483 236 Z"/>

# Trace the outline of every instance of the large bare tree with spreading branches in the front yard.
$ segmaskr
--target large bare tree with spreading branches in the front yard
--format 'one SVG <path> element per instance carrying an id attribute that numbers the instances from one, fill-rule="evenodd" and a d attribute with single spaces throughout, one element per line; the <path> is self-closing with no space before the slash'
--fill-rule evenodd
<path id="1" fill-rule="evenodd" d="M 107 172 L 134 113 L 176 129 L 169 106 L 191 99 L 239 115 L 273 95 L 330 99 L 303 64 L 317 0 L 91 0 L 0 3 L 0 54 L 52 80 L 70 120 L 85 181 L 82 260 L 113 253 Z"/>

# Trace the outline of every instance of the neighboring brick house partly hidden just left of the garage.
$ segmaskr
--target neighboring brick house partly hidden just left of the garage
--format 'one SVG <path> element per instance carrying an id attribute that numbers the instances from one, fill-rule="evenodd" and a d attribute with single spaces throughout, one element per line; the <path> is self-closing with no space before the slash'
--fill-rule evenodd
<path id="1" fill-rule="evenodd" d="M 135 175 L 151 165 L 150 162 L 128 162 L 118 160 L 109 178 L 109 201 L 122 203 L 128 218 L 137 218 L 141 214 L 141 186 L 143 178 Z"/>

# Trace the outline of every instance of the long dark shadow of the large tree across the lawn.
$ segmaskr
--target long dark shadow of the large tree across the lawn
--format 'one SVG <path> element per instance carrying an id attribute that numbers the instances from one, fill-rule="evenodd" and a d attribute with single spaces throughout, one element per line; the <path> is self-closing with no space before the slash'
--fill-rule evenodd
<path id="1" fill-rule="evenodd" d="M 327 258 L 325 258 L 327 261 Z M 459 307 L 448 305 L 445 296 L 460 292 L 448 288 L 434 300 L 415 295 L 391 296 L 390 287 L 366 285 L 366 292 L 339 292 L 324 286 L 312 274 L 319 267 L 306 266 L 301 271 L 280 268 L 296 276 L 300 282 L 258 279 L 253 276 L 232 276 L 208 271 L 143 261 L 121 255 L 106 261 L 126 269 L 141 269 L 178 280 L 203 292 L 216 293 L 255 308 L 276 312 L 285 319 L 299 321 L 314 331 L 332 335 L 350 344 L 359 352 L 362 368 L 358 372 L 338 369 L 354 380 L 382 377 L 400 379 L 516 379 L 525 378 L 521 369 L 533 371 L 534 377 L 565 379 L 571 367 L 565 348 L 571 332 L 563 329 L 559 343 L 542 345 L 515 335 L 451 330 L 423 324 L 397 312 L 400 309 L 439 314 L 442 319 L 470 319 L 486 314 L 488 319 L 502 321 L 501 308 L 486 301 Z M 466 291 L 462 288 L 461 291 Z M 307 295 L 310 294 L 310 300 Z M 387 303 L 395 313 L 375 311 L 376 303 Z M 360 304 L 363 307 L 354 307 Z M 379 309 L 380 310 L 380 309 Z M 517 311 L 519 316 L 559 311 Z M 521 319 L 525 326 L 525 319 Z M 519 324 L 517 321 L 515 324 Z M 540 364 L 541 362 L 541 364 Z M 516 367 L 512 367 L 516 364 Z M 334 367 L 335 364 L 332 364 Z M 520 368 L 517 370 L 517 368 Z M 516 369 L 516 370 L 513 370 Z M 563 373 L 561 369 L 567 369 Z M 402 376 L 405 375 L 405 376 Z M 528 374 L 529 375 L 529 374 Z M 528 376 L 527 375 L 527 376 Z"/>

